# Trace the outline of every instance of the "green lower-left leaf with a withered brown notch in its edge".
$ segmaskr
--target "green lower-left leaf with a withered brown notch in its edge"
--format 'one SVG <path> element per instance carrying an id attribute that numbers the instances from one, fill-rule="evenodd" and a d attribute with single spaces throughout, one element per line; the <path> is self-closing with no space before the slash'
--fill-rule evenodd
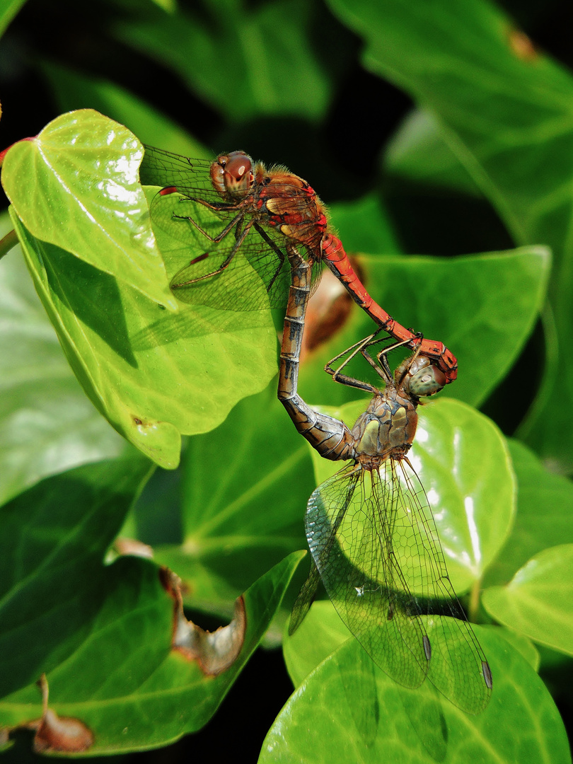
<path id="1" fill-rule="evenodd" d="M 170 650 L 172 601 L 154 565 L 121 558 L 111 568 L 92 633 L 47 675 L 50 707 L 92 730 L 92 756 L 164 746 L 198 730 L 215 714 L 256 649 L 299 558 L 290 555 L 245 592 L 247 632 L 241 653 L 216 677 L 203 675 L 195 662 Z M 2 724 L 39 717 L 38 696 L 31 685 L 0 701 Z"/>

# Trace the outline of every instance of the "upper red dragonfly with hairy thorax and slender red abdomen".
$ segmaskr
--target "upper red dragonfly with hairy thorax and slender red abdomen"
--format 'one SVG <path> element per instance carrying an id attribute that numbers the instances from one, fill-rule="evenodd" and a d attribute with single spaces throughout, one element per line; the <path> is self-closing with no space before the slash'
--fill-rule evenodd
<path id="1" fill-rule="evenodd" d="M 342 241 L 329 231 L 325 207 L 306 180 L 284 167 L 267 170 L 260 162 L 253 164 L 243 151 L 222 154 L 209 162 L 151 146 L 145 147 L 140 176 L 147 185 L 166 186 L 160 191 L 157 205 L 162 196 L 179 193 L 182 202 L 196 202 L 217 219 L 218 224 L 208 230 L 196 211 L 186 214 L 184 205 L 180 212 L 171 206 L 167 219 L 163 219 L 163 227 L 169 225 L 171 234 L 183 243 L 189 236 L 189 225 L 193 225 L 214 245 L 173 277 L 171 288 L 183 302 L 231 310 L 263 307 L 256 298 L 249 299 L 247 287 L 241 291 L 248 267 L 264 281 L 267 305 L 283 307 L 290 283 L 290 274 L 283 267 L 283 248 L 288 244 L 305 251 L 312 266 L 320 267 L 324 262 L 381 329 L 432 358 L 444 372 L 446 384 L 457 377 L 458 361 L 442 342 L 425 338 L 420 341 L 367 293 L 348 261 Z M 154 212 L 154 207 L 152 216 L 158 219 L 160 214 Z M 173 225 L 176 222 L 180 225 Z M 234 236 L 229 237 L 231 233 Z M 224 273 L 229 282 L 223 286 L 218 277 Z"/>

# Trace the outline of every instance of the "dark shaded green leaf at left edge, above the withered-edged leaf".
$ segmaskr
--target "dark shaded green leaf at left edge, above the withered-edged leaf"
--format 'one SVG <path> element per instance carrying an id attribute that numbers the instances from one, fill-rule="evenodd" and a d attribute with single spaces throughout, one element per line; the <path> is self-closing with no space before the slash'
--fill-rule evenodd
<path id="1" fill-rule="evenodd" d="M 117 571 L 102 558 L 150 472 L 137 454 L 85 465 L 46 478 L 0 509 L 2 697 L 89 639 Z"/>

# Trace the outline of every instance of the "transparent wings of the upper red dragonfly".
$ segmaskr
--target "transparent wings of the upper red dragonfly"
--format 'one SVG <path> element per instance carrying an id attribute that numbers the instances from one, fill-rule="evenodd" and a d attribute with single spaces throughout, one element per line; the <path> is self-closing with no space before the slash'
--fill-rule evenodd
<path id="1" fill-rule="evenodd" d="M 264 216 L 255 220 L 248 199 L 244 206 L 225 203 L 209 180 L 210 162 L 146 148 L 141 180 L 176 187 L 179 193 L 157 193 L 151 203 L 154 232 L 172 275 L 171 287 L 184 303 L 243 311 L 283 308 L 290 285 L 286 238 Z M 274 184 L 274 193 L 290 196 L 296 209 L 296 186 Z M 301 201 L 304 209 L 305 201 Z M 262 217 L 262 223 L 261 223 Z M 309 257 L 316 232 L 309 226 Z M 313 288 L 321 265 L 313 266 Z M 257 288 L 262 284 L 264 289 Z"/>

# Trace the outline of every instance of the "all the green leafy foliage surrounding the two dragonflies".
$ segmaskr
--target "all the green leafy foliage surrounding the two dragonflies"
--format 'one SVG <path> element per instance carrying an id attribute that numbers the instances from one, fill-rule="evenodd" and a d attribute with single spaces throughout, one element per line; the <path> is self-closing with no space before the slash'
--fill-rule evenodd
<path id="1" fill-rule="evenodd" d="M 0 8 L 0 29 L 18 5 Z M 224 128 L 206 140 L 192 103 L 199 140 L 123 84 L 38 61 L 60 111 L 76 111 L 12 147 L 2 167 L 2 234 L 12 225 L 19 247 L 3 257 L 11 240 L 0 244 L 0 728 L 40 718 L 45 673 L 50 708 L 92 730 L 87 756 L 165 746 L 207 724 L 265 639 L 282 641 L 296 691 L 261 762 L 567 762 L 533 643 L 558 662 L 571 656 L 573 489 L 547 468 L 573 463 L 571 73 L 523 47 L 484 0 L 329 0 L 330 13 L 299 0 L 121 5 L 116 43 L 159 60 Z M 471 620 L 488 622 L 475 631 L 494 690 L 474 717 L 429 682 L 393 683 L 327 601 L 283 638 L 303 581 L 306 501 L 340 465 L 311 454 L 277 402 L 277 316 L 221 309 L 221 292 L 206 304 L 173 295 L 170 279 L 206 244 L 186 222 L 183 240 L 170 225 L 179 197 L 160 208 L 157 187 L 139 183 L 142 141 L 210 158 L 202 144 L 248 150 L 266 131 L 271 159 L 283 160 L 289 120 L 310 132 L 334 108 L 351 33 L 364 66 L 416 108 L 385 147 L 374 190 L 333 204 L 330 219 L 346 250 L 360 251 L 377 302 L 458 356 L 458 380 L 419 410 L 410 458 L 452 585 Z M 342 173 L 339 156 L 329 161 Z M 452 198 L 487 206 L 515 248 L 411 254 L 390 177 L 434 196 L 452 226 Z M 317 190 L 329 200 L 328 184 Z M 181 214 L 217 230 L 196 202 Z M 464 252 L 474 248 L 468 235 Z M 247 274 L 237 307 L 264 299 L 257 272 L 235 265 Z M 303 363 L 299 385 L 349 426 L 366 403 L 322 367 L 372 331 L 353 308 Z M 532 336 L 539 364 L 523 356 Z M 515 410 L 521 440 L 474 408 L 484 405 Z M 151 545 L 153 561 L 118 556 L 125 536 Z M 172 648 L 161 565 L 182 579 L 199 625 L 229 620 L 244 593 L 244 644 L 219 676 Z M 570 701 L 559 679 L 551 689 Z"/>

